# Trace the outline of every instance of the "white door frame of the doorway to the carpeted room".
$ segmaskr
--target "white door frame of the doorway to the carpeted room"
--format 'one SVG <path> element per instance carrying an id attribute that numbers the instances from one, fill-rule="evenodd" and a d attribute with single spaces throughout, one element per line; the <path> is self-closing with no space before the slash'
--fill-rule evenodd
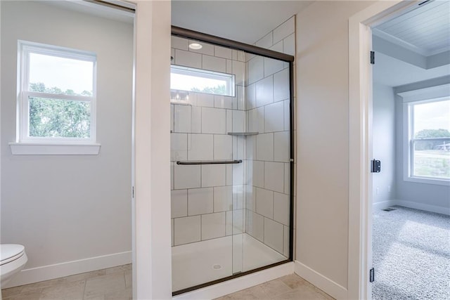
<path id="1" fill-rule="evenodd" d="M 378 1 L 349 18 L 348 299 L 372 299 L 372 50 L 371 27 L 419 4 Z"/>

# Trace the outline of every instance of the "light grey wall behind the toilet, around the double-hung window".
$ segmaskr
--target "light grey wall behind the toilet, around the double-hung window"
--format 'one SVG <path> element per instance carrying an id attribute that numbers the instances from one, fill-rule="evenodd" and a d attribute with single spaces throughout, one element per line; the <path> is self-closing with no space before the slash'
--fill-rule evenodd
<path id="1" fill-rule="evenodd" d="M 99 155 L 11 155 L 18 39 L 97 53 Z M 95 256 L 108 257 L 65 273 L 131 262 L 132 51 L 131 24 L 37 1 L 1 2 L 1 243 L 25 245 L 25 268 L 40 272 L 27 280 L 48 279 L 39 276 L 51 276 L 58 268 L 44 268 L 51 264 Z"/>

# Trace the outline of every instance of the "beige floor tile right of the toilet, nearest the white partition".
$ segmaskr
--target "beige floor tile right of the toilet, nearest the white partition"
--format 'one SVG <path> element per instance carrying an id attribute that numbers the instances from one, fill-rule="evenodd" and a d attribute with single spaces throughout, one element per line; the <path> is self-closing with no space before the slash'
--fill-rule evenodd
<path id="1" fill-rule="evenodd" d="M 124 272 L 116 272 L 86 280 L 84 296 L 96 296 L 125 289 Z"/>

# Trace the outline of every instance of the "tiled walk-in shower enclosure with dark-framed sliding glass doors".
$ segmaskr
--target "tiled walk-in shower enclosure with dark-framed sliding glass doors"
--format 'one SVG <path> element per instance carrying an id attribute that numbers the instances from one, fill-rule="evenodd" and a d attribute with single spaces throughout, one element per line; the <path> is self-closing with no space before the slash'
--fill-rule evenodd
<path id="1" fill-rule="evenodd" d="M 172 291 L 180 294 L 292 260 L 293 57 L 178 27 L 172 34 Z"/>

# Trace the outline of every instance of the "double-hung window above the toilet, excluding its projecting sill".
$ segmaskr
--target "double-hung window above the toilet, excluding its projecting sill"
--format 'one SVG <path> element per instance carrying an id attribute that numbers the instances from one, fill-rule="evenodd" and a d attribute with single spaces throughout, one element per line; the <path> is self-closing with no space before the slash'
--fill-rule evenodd
<path id="1" fill-rule="evenodd" d="M 96 141 L 96 54 L 19 41 L 18 143 Z"/>

